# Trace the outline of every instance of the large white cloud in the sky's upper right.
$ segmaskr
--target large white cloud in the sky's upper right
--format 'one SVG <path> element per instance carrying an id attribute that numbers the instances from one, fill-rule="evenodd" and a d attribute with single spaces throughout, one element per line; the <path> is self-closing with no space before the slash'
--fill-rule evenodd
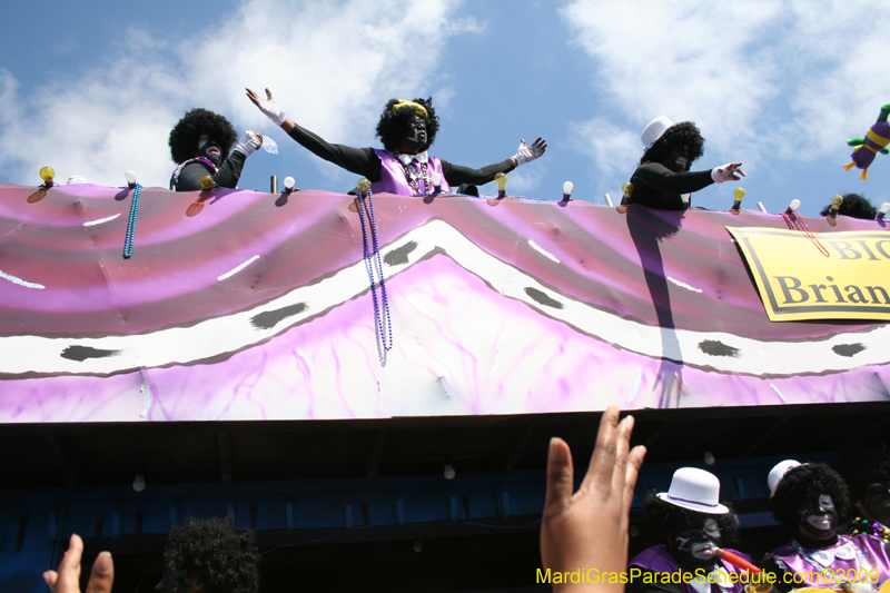
<path id="1" fill-rule="evenodd" d="M 623 129 L 639 135 L 659 115 L 694 120 L 708 162 L 835 154 L 890 100 L 890 11 L 876 2 L 577 0 L 562 17 Z M 590 147 L 599 158 L 599 136 Z M 614 159 L 602 158 L 611 174 Z"/>

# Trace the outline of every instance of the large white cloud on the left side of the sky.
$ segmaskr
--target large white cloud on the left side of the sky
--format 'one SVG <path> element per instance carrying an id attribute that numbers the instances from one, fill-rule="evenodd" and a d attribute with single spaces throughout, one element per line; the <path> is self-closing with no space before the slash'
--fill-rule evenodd
<path id="1" fill-rule="evenodd" d="M 50 164 L 59 179 L 112 186 L 135 169 L 142 182 L 166 186 L 167 137 L 187 109 L 271 129 L 245 87 L 271 88 L 294 120 L 332 141 L 367 146 L 380 105 L 436 83 L 419 73 L 435 70 L 448 39 L 478 30 L 455 17 L 457 3 L 250 0 L 190 40 L 129 31 L 108 51 L 113 59 L 28 96 L 0 70 L 0 168 L 13 182 L 34 182 Z"/>

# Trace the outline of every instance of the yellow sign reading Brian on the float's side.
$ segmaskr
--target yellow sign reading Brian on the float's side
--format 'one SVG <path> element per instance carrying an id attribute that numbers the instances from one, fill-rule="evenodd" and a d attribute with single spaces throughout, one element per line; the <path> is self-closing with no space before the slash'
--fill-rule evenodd
<path id="1" fill-rule="evenodd" d="M 726 230 L 771 322 L 890 319 L 890 231 L 813 233 L 811 239 L 777 228 Z"/>

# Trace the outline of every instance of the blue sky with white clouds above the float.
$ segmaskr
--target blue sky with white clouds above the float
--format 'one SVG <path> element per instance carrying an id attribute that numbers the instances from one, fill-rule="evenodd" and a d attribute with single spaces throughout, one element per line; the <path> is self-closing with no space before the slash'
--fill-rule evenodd
<path id="1" fill-rule="evenodd" d="M 869 180 L 850 148 L 890 102 L 890 10 L 872 1 L 461 2 L 244 0 L 8 3 L 0 22 L 0 184 L 81 175 L 166 187 L 167 136 L 191 107 L 270 135 L 240 187 L 345 191 L 355 176 L 275 128 L 244 96 L 269 87 L 295 121 L 334 142 L 379 146 L 392 97 L 432 96 L 432 152 L 481 167 L 544 136 L 546 155 L 510 175 L 512 195 L 603 204 L 633 172 L 654 117 L 695 121 L 693 168 L 744 162 L 744 206 L 798 198 L 817 216 L 832 195 L 890 201 L 890 156 Z M 732 204 L 734 185 L 693 202 Z M 494 192 L 493 187 L 483 191 Z"/>

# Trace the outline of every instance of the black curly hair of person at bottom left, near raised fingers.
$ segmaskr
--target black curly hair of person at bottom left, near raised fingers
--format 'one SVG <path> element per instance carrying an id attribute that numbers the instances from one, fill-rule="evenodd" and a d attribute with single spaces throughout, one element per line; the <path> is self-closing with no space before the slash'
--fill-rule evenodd
<path id="1" fill-rule="evenodd" d="M 257 593 L 259 552 L 254 533 L 237 533 L 231 517 L 189 518 L 164 548 L 165 584 L 176 593 L 197 577 L 207 593 Z"/>

